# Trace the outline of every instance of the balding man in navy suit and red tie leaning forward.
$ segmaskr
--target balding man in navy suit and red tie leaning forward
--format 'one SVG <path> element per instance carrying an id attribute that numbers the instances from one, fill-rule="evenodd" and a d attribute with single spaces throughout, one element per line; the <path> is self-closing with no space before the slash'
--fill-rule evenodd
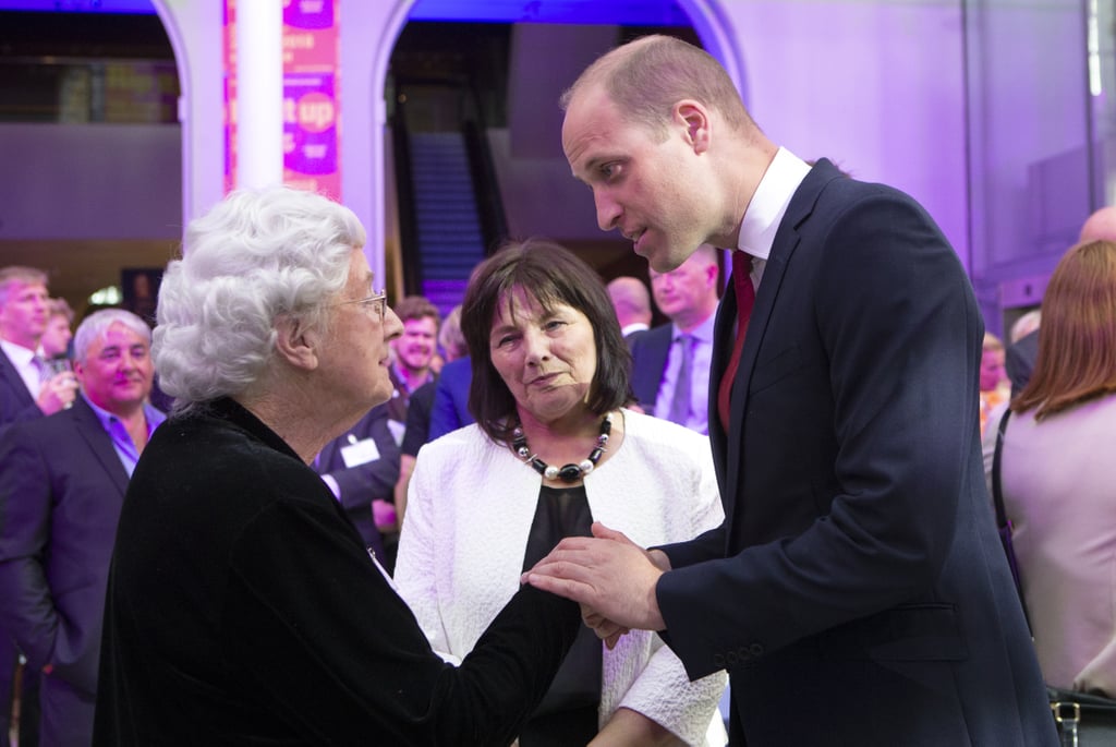
<path id="1" fill-rule="evenodd" d="M 777 147 L 676 39 L 613 50 L 564 105 L 603 229 L 657 271 L 733 250 L 710 382 L 725 520 L 650 552 L 595 525 L 530 583 L 606 639 L 663 631 L 692 678 L 727 669 L 733 744 L 1057 744 L 984 488 L 980 312 L 930 216 Z"/>

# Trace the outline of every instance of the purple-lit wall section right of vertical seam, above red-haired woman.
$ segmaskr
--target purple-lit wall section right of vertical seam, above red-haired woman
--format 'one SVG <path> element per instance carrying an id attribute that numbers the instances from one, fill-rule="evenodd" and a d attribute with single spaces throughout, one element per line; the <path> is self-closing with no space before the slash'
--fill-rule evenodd
<path id="1" fill-rule="evenodd" d="M 998 285 L 1048 274 L 1090 211 L 1081 4 L 972 12 L 973 274 L 990 303 Z"/>

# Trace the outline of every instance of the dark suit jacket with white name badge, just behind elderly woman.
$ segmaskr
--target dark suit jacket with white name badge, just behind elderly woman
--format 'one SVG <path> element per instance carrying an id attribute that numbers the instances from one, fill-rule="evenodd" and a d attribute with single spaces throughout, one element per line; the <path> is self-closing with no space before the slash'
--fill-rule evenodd
<path id="1" fill-rule="evenodd" d="M 366 439 L 375 442 L 379 458 L 346 467 L 343 449 Z M 372 501 L 376 498 L 392 501 L 395 482 L 400 479 L 400 447 L 387 429 L 387 405 L 376 405 L 356 425 L 327 443 L 318 454 L 315 469 L 318 475 L 329 475 L 337 480 L 345 513 L 365 544 L 383 558 L 384 543 L 372 516 Z"/>

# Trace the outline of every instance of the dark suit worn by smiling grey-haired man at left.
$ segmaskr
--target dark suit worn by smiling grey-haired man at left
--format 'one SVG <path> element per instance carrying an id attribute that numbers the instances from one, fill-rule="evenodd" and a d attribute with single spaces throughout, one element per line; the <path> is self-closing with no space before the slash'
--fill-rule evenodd
<path id="1" fill-rule="evenodd" d="M 83 398 L 0 435 L 0 621 L 41 676 L 41 744 L 88 744 L 128 476 Z"/>

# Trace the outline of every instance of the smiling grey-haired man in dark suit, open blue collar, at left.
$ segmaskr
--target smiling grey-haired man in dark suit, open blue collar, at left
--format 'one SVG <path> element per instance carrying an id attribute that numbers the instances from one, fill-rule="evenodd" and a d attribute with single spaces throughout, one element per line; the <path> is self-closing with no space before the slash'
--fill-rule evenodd
<path id="1" fill-rule="evenodd" d="M 163 415 L 151 331 L 121 309 L 78 327 L 83 396 L 0 435 L 0 625 L 41 672 L 44 745 L 88 746 L 108 562 L 128 476 Z"/>

